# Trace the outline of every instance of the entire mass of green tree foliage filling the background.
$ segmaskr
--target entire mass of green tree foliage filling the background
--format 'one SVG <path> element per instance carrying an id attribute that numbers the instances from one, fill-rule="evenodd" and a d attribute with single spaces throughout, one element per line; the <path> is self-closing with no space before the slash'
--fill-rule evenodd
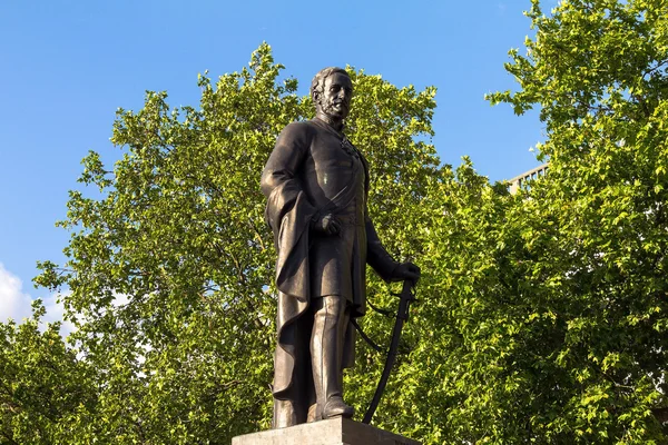
<path id="1" fill-rule="evenodd" d="M 668 9 L 662 0 L 534 0 L 511 51 L 540 107 L 548 175 L 510 195 L 465 159 L 441 166 L 432 88 L 350 70 L 347 134 L 367 156 L 386 248 L 423 269 L 420 304 L 375 425 L 424 443 L 664 444 L 668 432 Z M 226 444 L 268 427 L 274 247 L 258 177 L 276 135 L 310 118 L 268 46 L 199 107 L 149 92 L 119 110 L 109 170 L 91 152 L 72 192 L 68 263 L 37 278 L 77 330 L 1 325 L 0 443 Z M 396 304 L 370 274 L 370 298 Z M 363 326 L 387 340 L 393 320 Z M 383 357 L 358 344 L 363 412 Z"/>

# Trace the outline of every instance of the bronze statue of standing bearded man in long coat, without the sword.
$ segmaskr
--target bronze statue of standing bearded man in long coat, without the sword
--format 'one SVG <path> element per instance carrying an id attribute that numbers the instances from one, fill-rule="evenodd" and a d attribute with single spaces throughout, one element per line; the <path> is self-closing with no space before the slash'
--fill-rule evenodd
<path id="1" fill-rule="evenodd" d="M 420 277 L 387 254 L 369 217 L 369 165 L 343 134 L 350 76 L 321 70 L 311 96 L 315 118 L 281 132 L 262 174 L 278 253 L 275 428 L 353 416 L 342 380 L 354 362 L 351 318 L 366 312 L 366 264 L 387 281 Z"/>

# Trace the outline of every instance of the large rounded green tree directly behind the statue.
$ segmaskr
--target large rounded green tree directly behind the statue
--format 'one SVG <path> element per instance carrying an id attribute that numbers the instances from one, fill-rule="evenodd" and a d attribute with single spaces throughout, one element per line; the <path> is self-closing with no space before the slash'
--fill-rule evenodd
<path id="1" fill-rule="evenodd" d="M 202 76 L 198 109 L 148 92 L 141 110 L 118 111 L 114 169 L 96 152 L 84 160 L 80 180 L 100 195 L 71 192 L 68 261 L 43 263 L 37 281 L 70 290 L 71 340 L 96 370 L 98 442 L 224 444 L 269 426 L 275 251 L 258 180 L 278 132 L 313 112 L 282 68 L 263 44 L 215 86 Z M 406 208 L 439 171 L 420 139 L 432 134 L 434 90 L 351 76 L 348 134 L 372 165 L 372 211 L 389 248 L 415 256 Z M 370 394 L 372 378 L 351 386 Z M 89 437 L 72 429 L 70 442 Z"/>

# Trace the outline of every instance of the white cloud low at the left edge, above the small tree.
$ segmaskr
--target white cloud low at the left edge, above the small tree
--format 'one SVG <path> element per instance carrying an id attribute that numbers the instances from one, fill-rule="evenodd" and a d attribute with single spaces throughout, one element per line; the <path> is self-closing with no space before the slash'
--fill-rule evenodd
<path id="1" fill-rule="evenodd" d="M 67 294 L 50 294 L 42 298 L 47 315 L 42 322 L 62 322 L 65 308 L 59 298 Z M 17 323 L 21 323 L 24 318 L 30 318 L 32 315 L 32 297 L 23 291 L 23 283 L 19 277 L 4 268 L 0 263 L 0 322 L 4 323 L 8 318 L 12 318 Z M 43 326 L 42 326 L 43 328 Z M 75 326 L 69 322 L 62 322 L 60 334 L 65 337 L 75 329 Z"/>

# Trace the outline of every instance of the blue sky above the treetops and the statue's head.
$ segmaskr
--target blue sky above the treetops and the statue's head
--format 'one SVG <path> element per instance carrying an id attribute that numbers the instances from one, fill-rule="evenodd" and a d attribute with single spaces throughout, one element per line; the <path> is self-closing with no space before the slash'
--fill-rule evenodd
<path id="1" fill-rule="evenodd" d="M 543 0 L 549 11 L 556 0 Z M 199 99 L 197 75 L 246 66 L 263 41 L 306 93 L 313 75 L 351 65 L 397 86 L 438 88 L 436 146 L 443 162 L 470 156 L 491 180 L 539 162 L 536 112 L 490 107 L 485 92 L 517 88 L 503 69 L 531 32 L 529 0 L 209 1 L 4 0 L 0 3 L 0 319 L 29 314 L 46 289 L 37 260 L 61 263 L 68 190 L 96 150 L 112 164 L 115 111 L 141 108 L 145 90 L 171 106 Z M 522 50 L 523 52 L 523 50 Z M 363 149 L 363 147 L 361 147 Z"/>

